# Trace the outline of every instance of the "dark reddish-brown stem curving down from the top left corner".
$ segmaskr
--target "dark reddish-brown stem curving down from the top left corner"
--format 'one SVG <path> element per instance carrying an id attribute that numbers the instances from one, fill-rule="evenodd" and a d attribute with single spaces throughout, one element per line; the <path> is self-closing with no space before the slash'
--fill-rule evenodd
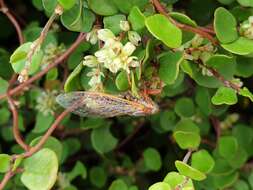
<path id="1" fill-rule="evenodd" d="M 3 14 L 5 14 L 8 17 L 8 19 L 11 21 L 11 23 L 15 27 L 16 32 L 18 34 L 19 43 L 20 44 L 24 43 L 24 37 L 22 34 L 21 27 L 19 26 L 16 18 L 10 13 L 8 7 L 4 3 L 4 0 L 0 0 L 0 8 L 1 8 L 0 10 L 3 12 Z"/>

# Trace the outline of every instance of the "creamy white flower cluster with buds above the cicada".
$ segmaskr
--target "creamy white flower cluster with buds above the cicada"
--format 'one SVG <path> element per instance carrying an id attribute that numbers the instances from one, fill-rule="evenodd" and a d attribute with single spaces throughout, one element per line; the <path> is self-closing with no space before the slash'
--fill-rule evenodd
<path id="1" fill-rule="evenodd" d="M 121 22 L 120 26 L 123 31 L 130 28 L 127 21 Z M 86 38 L 93 44 L 98 39 L 104 43 L 103 47 L 96 51 L 94 55 L 85 56 L 83 60 L 83 65 L 92 68 L 92 71 L 87 74 L 91 77 L 89 81 L 91 87 L 101 83 L 101 78 L 104 77 L 101 68 L 106 68 L 112 73 L 117 73 L 119 70 L 130 73 L 131 67 L 134 68 L 140 65 L 138 58 L 132 56 L 136 46 L 141 41 L 141 37 L 137 32 L 128 31 L 129 41 L 124 45 L 121 43 L 120 38 L 116 37 L 109 29 L 94 29 Z"/>

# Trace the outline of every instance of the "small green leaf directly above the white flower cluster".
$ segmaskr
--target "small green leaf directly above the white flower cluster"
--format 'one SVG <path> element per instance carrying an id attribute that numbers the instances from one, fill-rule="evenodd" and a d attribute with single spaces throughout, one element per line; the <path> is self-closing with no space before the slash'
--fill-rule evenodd
<path id="1" fill-rule="evenodd" d="M 122 30 L 120 28 L 120 21 L 126 20 L 125 15 L 113 15 L 104 17 L 104 28 L 111 30 L 115 35 L 118 35 Z"/>

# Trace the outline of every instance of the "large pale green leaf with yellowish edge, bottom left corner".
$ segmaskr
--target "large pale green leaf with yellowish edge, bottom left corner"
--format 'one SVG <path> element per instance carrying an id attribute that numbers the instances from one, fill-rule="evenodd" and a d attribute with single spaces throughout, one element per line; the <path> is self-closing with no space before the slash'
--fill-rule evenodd
<path id="1" fill-rule="evenodd" d="M 24 160 L 22 183 L 30 190 L 50 190 L 57 178 L 58 160 L 54 151 L 43 148 Z"/>

